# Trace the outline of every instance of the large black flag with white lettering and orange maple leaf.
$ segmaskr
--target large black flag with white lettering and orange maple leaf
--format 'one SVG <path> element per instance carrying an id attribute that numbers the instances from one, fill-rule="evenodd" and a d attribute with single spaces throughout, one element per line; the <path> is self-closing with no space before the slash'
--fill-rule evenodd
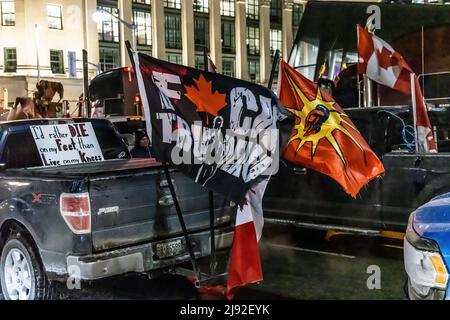
<path id="1" fill-rule="evenodd" d="M 270 90 L 133 56 L 159 161 L 239 204 L 250 187 L 278 169 L 278 120 L 285 116 Z"/>

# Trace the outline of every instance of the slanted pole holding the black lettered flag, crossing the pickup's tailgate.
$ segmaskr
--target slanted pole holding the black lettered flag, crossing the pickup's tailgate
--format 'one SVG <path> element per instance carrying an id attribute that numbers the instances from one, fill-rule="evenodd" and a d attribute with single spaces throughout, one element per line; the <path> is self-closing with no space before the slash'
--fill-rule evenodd
<path id="1" fill-rule="evenodd" d="M 146 118 L 146 121 L 145 121 L 146 128 L 150 128 L 151 129 L 150 110 L 147 110 L 147 109 L 149 109 L 148 106 L 146 107 L 146 104 L 148 103 L 148 100 L 146 98 L 147 94 L 145 92 L 145 88 L 143 87 L 142 75 L 140 73 L 141 71 L 140 71 L 139 68 L 136 68 L 136 61 L 134 60 L 134 53 L 135 53 L 135 51 L 133 51 L 133 49 L 131 48 L 131 44 L 130 44 L 130 42 L 128 40 L 125 41 L 125 46 L 127 48 L 128 55 L 130 56 L 130 61 L 131 61 L 131 64 L 133 65 L 133 69 L 136 72 L 136 79 L 138 80 L 139 92 L 141 94 L 142 103 L 144 105 L 144 110 L 146 111 L 146 112 L 144 112 L 145 116 L 146 116 L 145 117 Z M 139 61 L 138 61 L 138 67 L 139 67 Z M 141 82 L 141 83 L 139 83 L 139 82 Z M 141 92 L 141 89 L 144 89 L 144 92 Z M 148 129 L 147 129 L 147 134 L 149 134 L 149 130 Z M 151 130 L 150 130 L 150 134 L 151 134 Z M 149 137 L 151 139 L 151 135 Z M 177 212 L 178 220 L 180 222 L 181 229 L 183 231 L 184 240 L 186 241 L 186 247 L 188 249 L 189 257 L 191 259 L 192 269 L 193 269 L 195 277 L 196 277 L 195 285 L 196 285 L 196 287 L 199 287 L 199 285 L 200 285 L 200 277 L 201 277 L 200 268 L 198 266 L 197 260 L 195 260 L 194 250 L 193 250 L 193 247 L 192 247 L 192 244 L 191 244 L 191 240 L 189 238 L 189 234 L 187 232 L 186 224 L 184 222 L 184 218 L 183 218 L 183 214 L 181 212 L 180 204 L 178 202 L 177 194 L 175 192 L 175 188 L 173 187 L 172 178 L 170 176 L 169 168 L 168 168 L 166 162 L 163 162 L 162 166 L 163 166 L 163 170 L 164 170 L 164 173 L 165 173 L 165 176 L 166 176 L 166 179 L 167 179 L 167 184 L 169 186 L 170 194 L 172 195 L 173 204 L 174 204 L 175 210 Z"/>

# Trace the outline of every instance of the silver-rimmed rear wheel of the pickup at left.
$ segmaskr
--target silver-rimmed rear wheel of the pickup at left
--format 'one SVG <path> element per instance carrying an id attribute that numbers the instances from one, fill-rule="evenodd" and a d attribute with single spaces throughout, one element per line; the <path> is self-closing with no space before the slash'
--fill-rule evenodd
<path id="1" fill-rule="evenodd" d="M 40 300 L 48 292 L 48 281 L 32 243 L 20 233 L 3 247 L 0 282 L 6 300 Z"/>

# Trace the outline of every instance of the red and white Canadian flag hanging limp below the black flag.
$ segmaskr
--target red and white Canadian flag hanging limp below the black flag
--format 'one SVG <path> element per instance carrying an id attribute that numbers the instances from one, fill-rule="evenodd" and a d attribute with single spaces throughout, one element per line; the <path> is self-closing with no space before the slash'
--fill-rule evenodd
<path id="1" fill-rule="evenodd" d="M 228 270 L 227 298 L 233 299 L 235 288 L 263 279 L 258 242 L 264 225 L 262 198 L 269 179 L 258 183 L 238 207 Z"/>

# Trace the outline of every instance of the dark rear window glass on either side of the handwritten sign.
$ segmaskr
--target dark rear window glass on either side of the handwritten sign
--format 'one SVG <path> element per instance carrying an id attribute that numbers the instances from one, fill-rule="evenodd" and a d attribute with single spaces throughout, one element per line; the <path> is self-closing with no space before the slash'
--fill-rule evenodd
<path id="1" fill-rule="evenodd" d="M 128 148 L 109 127 L 95 127 L 95 135 L 105 160 L 130 158 Z M 7 168 L 30 168 L 43 166 L 31 131 L 10 133 L 2 154 Z"/>

